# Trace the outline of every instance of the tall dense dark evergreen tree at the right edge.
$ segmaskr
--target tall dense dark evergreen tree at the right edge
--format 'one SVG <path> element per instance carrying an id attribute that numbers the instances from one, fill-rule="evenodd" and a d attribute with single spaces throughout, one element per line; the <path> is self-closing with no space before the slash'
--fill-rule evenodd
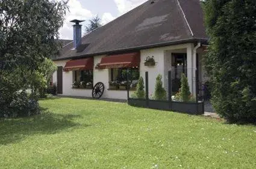
<path id="1" fill-rule="evenodd" d="M 205 69 L 212 104 L 228 122 L 256 122 L 256 1 L 207 0 Z"/>

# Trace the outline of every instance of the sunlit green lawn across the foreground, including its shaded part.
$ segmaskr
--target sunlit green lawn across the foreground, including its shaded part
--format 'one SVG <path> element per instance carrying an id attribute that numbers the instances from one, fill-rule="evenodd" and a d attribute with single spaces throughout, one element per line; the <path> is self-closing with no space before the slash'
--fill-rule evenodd
<path id="1" fill-rule="evenodd" d="M 1 168 L 256 168 L 256 126 L 56 98 L 0 121 Z"/>

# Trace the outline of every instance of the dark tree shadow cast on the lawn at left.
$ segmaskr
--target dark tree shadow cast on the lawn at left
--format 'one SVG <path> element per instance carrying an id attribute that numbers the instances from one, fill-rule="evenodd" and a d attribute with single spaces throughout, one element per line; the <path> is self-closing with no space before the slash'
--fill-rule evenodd
<path id="1" fill-rule="evenodd" d="M 80 116 L 43 111 L 42 114 L 31 117 L 0 119 L 0 145 L 16 143 L 34 134 L 55 134 L 80 126 L 80 123 L 73 121 L 77 117 Z"/>

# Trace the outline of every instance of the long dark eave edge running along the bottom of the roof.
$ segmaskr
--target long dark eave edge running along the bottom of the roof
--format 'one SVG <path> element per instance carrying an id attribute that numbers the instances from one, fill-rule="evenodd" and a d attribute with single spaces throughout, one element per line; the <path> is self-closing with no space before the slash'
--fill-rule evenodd
<path id="1" fill-rule="evenodd" d="M 208 44 L 209 39 L 206 38 L 190 38 L 186 40 L 179 40 L 179 41 L 169 41 L 166 43 L 157 43 L 157 44 L 149 44 L 146 46 L 137 46 L 137 47 L 130 47 L 126 49 L 117 49 L 117 50 L 111 50 L 106 52 L 98 52 L 98 53 L 89 53 L 86 55 L 75 55 L 75 56 L 69 56 L 65 58 L 55 58 L 52 59 L 53 61 L 63 61 L 66 59 L 80 59 L 80 58 L 87 58 L 97 55 L 113 55 L 121 52 L 135 52 L 137 50 L 143 50 L 143 49 L 151 49 L 151 48 L 157 48 L 157 47 L 164 47 L 164 46 L 170 46 L 170 45 L 176 45 L 176 44 L 184 44 L 184 43 L 201 43 L 201 44 Z"/>

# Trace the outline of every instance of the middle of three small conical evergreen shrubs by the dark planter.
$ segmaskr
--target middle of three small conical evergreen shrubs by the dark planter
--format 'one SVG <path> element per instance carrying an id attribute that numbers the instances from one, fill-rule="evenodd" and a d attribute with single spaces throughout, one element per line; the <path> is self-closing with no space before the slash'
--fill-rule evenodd
<path id="1" fill-rule="evenodd" d="M 158 74 L 156 82 L 155 82 L 154 99 L 166 100 L 166 90 L 164 90 L 164 87 L 163 87 L 161 74 Z"/>

